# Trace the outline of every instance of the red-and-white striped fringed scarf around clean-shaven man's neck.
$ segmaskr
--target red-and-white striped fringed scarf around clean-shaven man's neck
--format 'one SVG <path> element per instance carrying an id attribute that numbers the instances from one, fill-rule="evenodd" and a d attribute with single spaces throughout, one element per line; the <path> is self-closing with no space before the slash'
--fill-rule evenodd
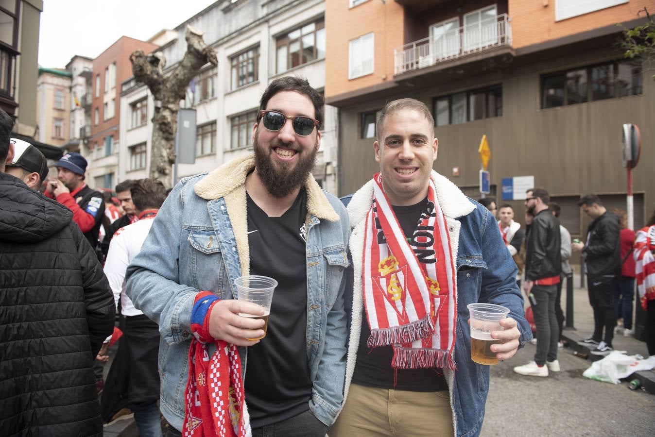
<path id="1" fill-rule="evenodd" d="M 364 306 L 369 347 L 392 345 L 392 367 L 456 370 L 457 283 L 445 216 L 430 179 L 428 205 L 407 242 L 373 176 L 373 205 L 364 235 Z"/>

